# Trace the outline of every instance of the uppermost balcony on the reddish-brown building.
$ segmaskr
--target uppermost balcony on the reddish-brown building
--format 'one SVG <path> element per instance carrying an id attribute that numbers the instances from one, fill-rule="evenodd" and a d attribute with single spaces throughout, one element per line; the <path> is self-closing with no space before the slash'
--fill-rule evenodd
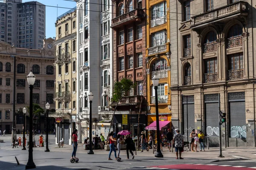
<path id="1" fill-rule="evenodd" d="M 143 18 L 144 17 L 143 14 L 144 14 L 144 11 L 142 9 L 134 9 L 125 14 L 122 14 L 112 20 L 111 28 L 116 29 L 124 25 L 129 25 L 136 21 L 141 22 L 140 20 L 138 20 L 138 18 Z"/>

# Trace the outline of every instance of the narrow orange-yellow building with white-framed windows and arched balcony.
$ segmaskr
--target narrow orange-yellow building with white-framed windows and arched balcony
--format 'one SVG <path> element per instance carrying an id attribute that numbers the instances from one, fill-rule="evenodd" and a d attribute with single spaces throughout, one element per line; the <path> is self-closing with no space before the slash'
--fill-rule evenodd
<path id="1" fill-rule="evenodd" d="M 155 92 L 152 78 L 159 78 L 157 89 L 160 121 L 171 120 L 170 74 L 170 22 L 169 0 L 146 1 L 146 61 L 147 61 L 147 102 L 148 125 L 156 120 Z M 171 125 L 171 123 L 170 123 Z M 171 127 L 167 125 L 167 127 Z"/>

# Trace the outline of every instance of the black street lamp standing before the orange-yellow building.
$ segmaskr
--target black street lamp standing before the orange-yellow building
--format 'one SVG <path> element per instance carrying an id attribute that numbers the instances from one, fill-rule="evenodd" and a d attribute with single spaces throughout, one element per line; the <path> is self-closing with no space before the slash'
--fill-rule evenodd
<path id="1" fill-rule="evenodd" d="M 156 75 L 154 75 L 152 82 L 155 90 L 156 122 L 157 122 L 157 153 L 155 154 L 155 157 L 163 158 L 163 154 L 160 149 L 160 130 L 159 130 L 158 97 L 157 97 L 157 86 L 159 84 L 159 79 L 157 78 Z"/>

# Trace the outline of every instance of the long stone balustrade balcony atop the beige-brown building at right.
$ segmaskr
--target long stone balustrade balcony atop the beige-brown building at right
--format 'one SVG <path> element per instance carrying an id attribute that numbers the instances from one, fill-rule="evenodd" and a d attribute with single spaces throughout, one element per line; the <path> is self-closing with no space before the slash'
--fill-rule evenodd
<path id="1" fill-rule="evenodd" d="M 239 1 L 232 3 L 203 14 L 196 15 L 192 18 L 191 28 L 206 26 L 208 23 L 213 23 L 216 20 L 221 21 L 227 18 L 234 19 L 235 17 L 247 16 L 247 3 Z"/>

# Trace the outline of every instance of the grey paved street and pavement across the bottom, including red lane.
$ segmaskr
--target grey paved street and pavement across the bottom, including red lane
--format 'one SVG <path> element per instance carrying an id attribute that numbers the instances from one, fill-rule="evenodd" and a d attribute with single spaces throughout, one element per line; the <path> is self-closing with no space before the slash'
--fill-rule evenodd
<path id="1" fill-rule="evenodd" d="M 17 135 L 19 137 L 20 135 Z M 38 136 L 35 136 L 37 143 Z M 11 136 L 0 136 L 4 143 L 0 143 L 0 170 L 23 170 L 28 161 L 28 149 L 21 150 L 22 147 L 12 148 Z M 155 158 L 151 152 L 137 152 L 135 159 L 125 159 L 126 151 L 121 151 L 122 162 L 115 160 L 108 161 L 108 151 L 94 150 L 94 155 L 88 155 L 82 144 L 79 144 L 77 157 L 79 162 L 71 164 L 70 157 L 72 146 L 64 145 L 58 148 L 55 144 L 55 136 L 49 135 L 50 152 L 44 152 L 45 147 L 33 148 L 33 159 L 37 169 L 54 170 L 249 170 L 256 169 L 256 149 L 255 148 L 227 148 L 223 154 L 225 158 L 218 159 L 218 148 L 210 148 L 205 152 L 183 152 L 183 160 L 176 160 L 175 153 L 168 152 L 163 148 L 164 158 Z M 20 165 L 15 160 L 17 157 Z M 238 157 L 240 156 L 240 157 Z M 113 159 L 113 153 L 111 155 Z M 228 161 L 225 161 L 228 160 Z"/>

